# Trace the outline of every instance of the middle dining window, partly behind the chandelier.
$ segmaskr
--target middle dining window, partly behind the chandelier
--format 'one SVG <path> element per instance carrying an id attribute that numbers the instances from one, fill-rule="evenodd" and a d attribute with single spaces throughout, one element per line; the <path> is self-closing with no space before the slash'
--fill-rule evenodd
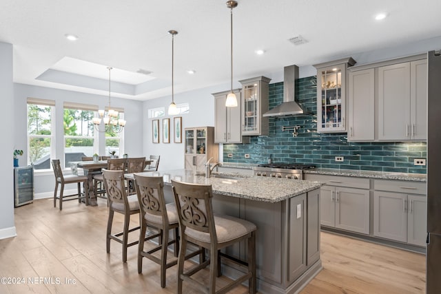
<path id="1" fill-rule="evenodd" d="M 71 161 L 81 161 L 83 156 L 98 153 L 97 132 L 92 121 L 97 110 L 94 105 L 64 103 L 65 167 L 70 167 Z"/>

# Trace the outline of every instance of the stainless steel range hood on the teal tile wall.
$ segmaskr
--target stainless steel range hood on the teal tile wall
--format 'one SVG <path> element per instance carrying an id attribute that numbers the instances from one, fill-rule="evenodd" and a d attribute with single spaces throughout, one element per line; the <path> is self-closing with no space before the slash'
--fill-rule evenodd
<path id="1" fill-rule="evenodd" d="M 263 116 L 294 116 L 299 114 L 309 114 L 296 103 L 295 89 L 296 79 L 298 79 L 298 66 L 285 66 L 283 69 L 283 103 L 265 112 Z"/>

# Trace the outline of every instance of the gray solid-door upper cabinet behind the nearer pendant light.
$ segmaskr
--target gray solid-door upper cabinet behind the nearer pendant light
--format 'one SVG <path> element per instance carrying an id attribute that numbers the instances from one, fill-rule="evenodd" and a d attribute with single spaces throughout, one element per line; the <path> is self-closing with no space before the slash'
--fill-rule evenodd
<path id="1" fill-rule="evenodd" d="M 212 94 L 214 96 L 214 143 L 242 143 L 242 96 L 234 90 L 238 99 L 237 107 L 226 107 L 227 94 L 231 91 Z"/>

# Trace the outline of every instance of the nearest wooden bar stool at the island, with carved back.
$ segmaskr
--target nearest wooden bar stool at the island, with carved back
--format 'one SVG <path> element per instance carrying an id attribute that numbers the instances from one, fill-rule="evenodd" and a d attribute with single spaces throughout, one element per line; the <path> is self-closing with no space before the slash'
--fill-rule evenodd
<path id="1" fill-rule="evenodd" d="M 226 293 L 248 280 L 249 293 L 256 293 L 256 225 L 232 216 L 214 215 L 211 185 L 188 184 L 172 180 L 176 210 L 178 211 L 181 242 L 178 256 L 177 293 L 183 293 L 183 281 L 192 283 L 206 293 Z M 230 258 L 220 249 L 247 240 L 247 262 Z M 209 250 L 209 260 L 184 272 L 187 242 Z M 216 276 L 220 276 L 220 258 L 247 264 L 247 273 L 216 291 Z M 209 264 L 209 283 L 203 284 L 192 275 Z"/>

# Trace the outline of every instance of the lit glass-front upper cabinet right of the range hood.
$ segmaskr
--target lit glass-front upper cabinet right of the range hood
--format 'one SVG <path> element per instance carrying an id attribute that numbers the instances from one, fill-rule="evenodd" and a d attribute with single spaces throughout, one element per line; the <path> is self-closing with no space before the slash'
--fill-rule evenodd
<path id="1" fill-rule="evenodd" d="M 347 132 L 347 67 L 351 57 L 314 65 L 317 69 L 317 132 Z"/>

